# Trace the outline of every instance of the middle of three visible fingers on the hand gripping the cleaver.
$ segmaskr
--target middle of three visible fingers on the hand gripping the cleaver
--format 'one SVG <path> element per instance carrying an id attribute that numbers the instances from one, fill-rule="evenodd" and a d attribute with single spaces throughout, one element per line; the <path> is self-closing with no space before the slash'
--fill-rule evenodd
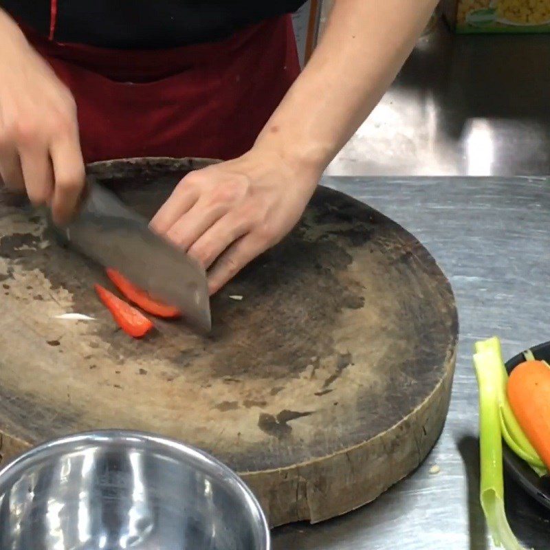
<path id="1" fill-rule="evenodd" d="M 21 170 L 30 201 L 35 206 L 50 203 L 54 173 L 47 148 L 25 147 L 21 151 Z"/>

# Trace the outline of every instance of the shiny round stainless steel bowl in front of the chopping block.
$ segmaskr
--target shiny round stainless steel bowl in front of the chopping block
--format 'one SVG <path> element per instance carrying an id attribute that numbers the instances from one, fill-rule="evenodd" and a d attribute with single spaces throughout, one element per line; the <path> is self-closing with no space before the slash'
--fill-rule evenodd
<path id="1" fill-rule="evenodd" d="M 269 550 L 263 511 L 228 467 L 150 434 L 45 443 L 0 472 L 0 550 Z"/>

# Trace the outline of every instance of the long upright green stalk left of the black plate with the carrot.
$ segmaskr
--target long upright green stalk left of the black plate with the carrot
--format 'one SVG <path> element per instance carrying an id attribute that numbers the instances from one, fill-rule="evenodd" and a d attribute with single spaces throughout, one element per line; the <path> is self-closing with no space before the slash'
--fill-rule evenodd
<path id="1" fill-rule="evenodd" d="M 481 507 L 497 547 L 525 550 L 511 531 L 504 508 L 503 447 L 498 406 L 502 373 L 498 354 L 494 351 L 476 353 L 474 367 L 479 386 Z"/>

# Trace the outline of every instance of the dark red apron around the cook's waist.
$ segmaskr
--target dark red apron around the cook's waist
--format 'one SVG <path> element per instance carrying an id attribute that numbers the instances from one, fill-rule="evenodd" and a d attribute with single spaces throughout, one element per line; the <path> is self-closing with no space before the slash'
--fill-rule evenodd
<path id="1" fill-rule="evenodd" d="M 289 16 L 172 50 L 106 50 L 24 31 L 74 94 L 86 162 L 238 157 L 300 72 Z"/>

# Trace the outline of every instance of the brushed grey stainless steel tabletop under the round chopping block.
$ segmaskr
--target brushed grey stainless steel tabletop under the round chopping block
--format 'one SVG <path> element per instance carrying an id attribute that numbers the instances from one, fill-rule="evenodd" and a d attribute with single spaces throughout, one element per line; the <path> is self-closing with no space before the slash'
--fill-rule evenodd
<path id="1" fill-rule="evenodd" d="M 320 525 L 274 532 L 274 550 L 485 550 L 478 505 L 477 390 L 472 344 L 500 336 L 505 356 L 550 340 L 550 180 L 352 178 L 325 184 L 366 201 L 415 234 L 450 279 L 461 322 L 448 421 L 409 478 L 371 505 Z M 439 474 L 430 474 L 438 465 Z M 512 528 L 550 548 L 550 513 L 509 481 Z"/>

